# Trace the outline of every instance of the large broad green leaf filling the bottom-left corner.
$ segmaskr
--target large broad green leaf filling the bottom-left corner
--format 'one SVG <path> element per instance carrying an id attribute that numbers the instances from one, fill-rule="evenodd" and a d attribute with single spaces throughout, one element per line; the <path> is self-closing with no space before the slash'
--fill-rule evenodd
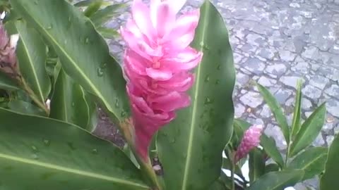
<path id="1" fill-rule="evenodd" d="M 149 189 L 119 148 L 85 130 L 0 108 L 1 189 Z"/>

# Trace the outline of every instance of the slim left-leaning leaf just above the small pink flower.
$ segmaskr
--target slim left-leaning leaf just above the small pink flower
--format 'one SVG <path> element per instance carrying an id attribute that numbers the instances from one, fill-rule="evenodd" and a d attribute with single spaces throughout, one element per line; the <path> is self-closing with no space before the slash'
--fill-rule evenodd
<path id="1" fill-rule="evenodd" d="M 270 107 L 270 110 L 272 111 L 275 120 L 278 122 L 278 125 L 284 134 L 287 144 L 290 144 L 290 131 L 288 129 L 288 124 L 286 117 L 283 113 L 283 109 L 280 107 L 278 101 L 275 99 L 273 94 L 270 94 L 270 91 L 268 91 L 268 89 L 263 87 L 261 84 L 256 84 L 256 86 L 258 87 L 261 96 L 263 96 L 263 99 Z"/>

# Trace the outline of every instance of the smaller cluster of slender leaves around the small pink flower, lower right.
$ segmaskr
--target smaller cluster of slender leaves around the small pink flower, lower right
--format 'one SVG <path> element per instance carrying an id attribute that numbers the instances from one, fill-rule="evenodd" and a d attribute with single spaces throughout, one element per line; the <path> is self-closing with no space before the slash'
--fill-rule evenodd
<path id="1" fill-rule="evenodd" d="M 240 187 L 249 186 L 246 189 L 250 190 L 278 190 L 320 175 L 325 169 L 328 148 L 309 146 L 323 127 L 326 116 L 325 103 L 322 103 L 309 118 L 302 122 L 302 82 L 299 81 L 292 126 L 289 127 L 283 109 L 273 94 L 261 84 L 257 84 L 257 87 L 283 132 L 287 142 L 287 153 L 284 159 L 277 146 L 275 146 L 274 139 L 263 134 L 261 136 L 262 148 L 255 148 L 249 153 L 249 182 L 246 181 L 240 170 L 244 160 L 247 159 L 244 158 L 236 165 L 234 170 L 235 175 L 242 179 L 238 180 L 237 184 Z M 250 125 L 243 120 L 236 119 L 234 121 L 234 133 L 231 143 L 226 148 L 226 153 L 234 151 L 234 147 L 239 146 L 239 140 L 242 139 L 244 131 Z M 223 168 L 231 170 L 231 160 L 228 158 L 230 158 L 230 154 L 227 154 L 227 158 L 224 158 Z M 273 162 L 268 162 L 269 158 Z M 230 189 L 230 183 L 232 183 L 230 177 L 224 175 L 221 180 Z"/>

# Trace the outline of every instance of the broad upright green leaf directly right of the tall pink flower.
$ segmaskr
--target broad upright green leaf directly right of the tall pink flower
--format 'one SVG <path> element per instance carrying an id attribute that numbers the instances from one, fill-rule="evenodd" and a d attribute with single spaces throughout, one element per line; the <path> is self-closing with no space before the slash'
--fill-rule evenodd
<path id="1" fill-rule="evenodd" d="M 208 189 L 220 176 L 222 150 L 232 136 L 234 64 L 227 29 L 205 1 L 192 46 L 203 51 L 189 91 L 191 106 L 157 134 L 167 189 Z"/>

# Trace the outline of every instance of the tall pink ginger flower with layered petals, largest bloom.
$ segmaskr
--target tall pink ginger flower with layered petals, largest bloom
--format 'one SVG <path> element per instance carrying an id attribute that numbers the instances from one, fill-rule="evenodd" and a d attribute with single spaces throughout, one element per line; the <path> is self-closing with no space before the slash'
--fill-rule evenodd
<path id="1" fill-rule="evenodd" d="M 189 106 L 185 93 L 194 82 L 189 70 L 203 54 L 191 48 L 199 11 L 177 16 L 186 0 L 151 0 L 150 7 L 134 0 L 132 19 L 121 27 L 127 49 L 124 72 L 131 101 L 135 144 L 148 158 L 153 134 L 172 121 L 175 110 Z"/>

